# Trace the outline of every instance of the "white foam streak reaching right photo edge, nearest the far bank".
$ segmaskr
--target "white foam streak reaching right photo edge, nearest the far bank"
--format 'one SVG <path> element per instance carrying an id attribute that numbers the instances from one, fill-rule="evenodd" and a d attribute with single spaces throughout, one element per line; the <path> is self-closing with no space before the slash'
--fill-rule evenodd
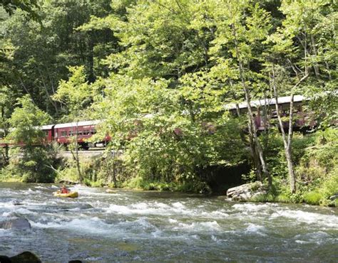
<path id="1" fill-rule="evenodd" d="M 304 222 L 309 225 L 320 225 L 323 227 L 331 227 L 338 229 L 338 217 L 337 215 L 323 215 L 319 213 L 304 212 L 301 210 L 280 210 L 272 213 L 270 219 L 274 218 L 289 218 L 295 219 L 296 222 Z M 295 222 L 295 221 L 293 221 Z"/>

